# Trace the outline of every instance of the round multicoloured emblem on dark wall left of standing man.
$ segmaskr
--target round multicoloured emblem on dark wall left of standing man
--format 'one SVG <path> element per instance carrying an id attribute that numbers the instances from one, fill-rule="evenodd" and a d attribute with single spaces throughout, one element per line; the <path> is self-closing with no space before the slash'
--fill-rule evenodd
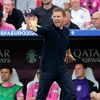
<path id="1" fill-rule="evenodd" d="M 26 60 L 28 61 L 28 63 L 35 63 L 37 61 L 37 53 L 35 50 L 29 50 L 26 54 Z"/>

